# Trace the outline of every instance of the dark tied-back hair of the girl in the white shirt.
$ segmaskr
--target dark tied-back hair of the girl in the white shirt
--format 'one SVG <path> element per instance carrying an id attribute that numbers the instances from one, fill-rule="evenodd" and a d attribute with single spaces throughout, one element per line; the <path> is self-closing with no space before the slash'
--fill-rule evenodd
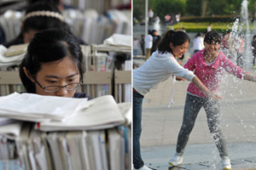
<path id="1" fill-rule="evenodd" d="M 171 42 L 173 46 L 176 47 L 182 45 L 184 42 L 189 42 L 189 36 L 183 31 L 167 31 L 165 37 L 158 46 L 158 51 L 161 54 L 172 53 L 172 48 L 170 47 Z"/>

